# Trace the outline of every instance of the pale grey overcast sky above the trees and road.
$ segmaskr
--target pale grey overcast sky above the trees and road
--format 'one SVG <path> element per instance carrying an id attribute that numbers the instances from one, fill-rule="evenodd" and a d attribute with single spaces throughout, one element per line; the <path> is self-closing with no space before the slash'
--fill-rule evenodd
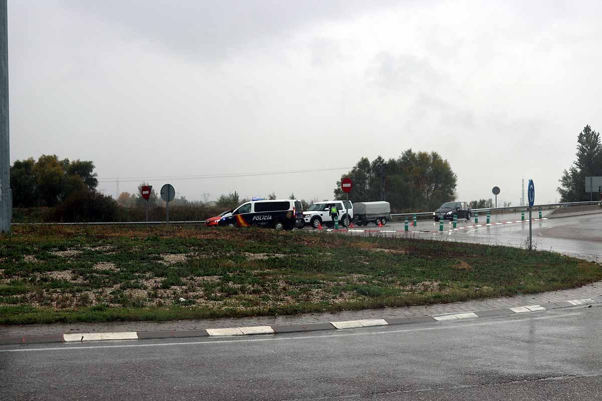
<path id="1" fill-rule="evenodd" d="M 376 5 L 375 5 L 376 4 Z M 128 177 L 352 167 L 435 150 L 459 200 L 554 201 L 602 130 L 600 1 L 9 1 L 11 162 Z M 332 198 L 346 170 L 171 182 Z"/>

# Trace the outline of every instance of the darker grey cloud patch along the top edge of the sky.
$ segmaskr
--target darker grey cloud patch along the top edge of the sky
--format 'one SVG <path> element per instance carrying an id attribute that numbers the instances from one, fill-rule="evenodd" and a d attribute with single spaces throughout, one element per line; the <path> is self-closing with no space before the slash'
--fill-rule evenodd
<path id="1" fill-rule="evenodd" d="M 64 0 L 75 13 L 119 27 L 130 40 L 157 44 L 190 60 L 216 61 L 262 40 L 283 38 L 309 23 L 341 20 L 398 4 L 359 0 Z"/>

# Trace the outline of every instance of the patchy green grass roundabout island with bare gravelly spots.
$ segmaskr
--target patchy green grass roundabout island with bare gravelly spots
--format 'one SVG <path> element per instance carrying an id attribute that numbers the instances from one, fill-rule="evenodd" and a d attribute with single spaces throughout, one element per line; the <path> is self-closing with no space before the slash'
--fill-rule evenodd
<path id="1" fill-rule="evenodd" d="M 19 226 L 0 236 L 0 323 L 270 316 L 436 304 L 602 280 L 504 246 L 194 227 Z"/>

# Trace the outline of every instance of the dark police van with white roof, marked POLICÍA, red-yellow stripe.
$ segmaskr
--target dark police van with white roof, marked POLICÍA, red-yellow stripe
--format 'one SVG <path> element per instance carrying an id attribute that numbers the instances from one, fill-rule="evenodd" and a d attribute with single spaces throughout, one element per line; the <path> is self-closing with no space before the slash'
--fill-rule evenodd
<path id="1" fill-rule="evenodd" d="M 252 200 L 238 206 L 232 215 L 222 218 L 219 225 L 291 230 L 303 227 L 303 206 L 301 201 L 291 199 Z"/>

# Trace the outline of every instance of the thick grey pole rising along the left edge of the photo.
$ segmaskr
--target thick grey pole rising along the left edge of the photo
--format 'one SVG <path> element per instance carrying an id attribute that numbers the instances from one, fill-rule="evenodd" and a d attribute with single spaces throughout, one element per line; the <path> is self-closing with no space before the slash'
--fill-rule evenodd
<path id="1" fill-rule="evenodd" d="M 10 141 L 8 140 L 8 12 L 0 0 L 0 232 L 10 232 L 13 194 L 10 189 Z"/>

